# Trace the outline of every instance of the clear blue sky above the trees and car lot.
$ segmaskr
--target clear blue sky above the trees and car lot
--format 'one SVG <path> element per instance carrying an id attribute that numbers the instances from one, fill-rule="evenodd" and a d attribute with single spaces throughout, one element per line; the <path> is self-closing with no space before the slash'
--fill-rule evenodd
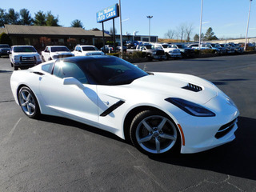
<path id="1" fill-rule="evenodd" d="M 121 0 L 122 34 L 157 35 L 165 38 L 168 30 L 177 30 L 182 24 L 192 25 L 193 34 L 199 34 L 202 0 Z M 118 3 L 118 0 L 11 0 L 3 1 L 0 8 L 19 11 L 30 10 L 31 17 L 39 10 L 51 11 L 58 16 L 59 25 L 70 26 L 75 19 L 82 22 L 86 30 L 98 28 L 96 13 Z M 248 21 L 250 0 L 203 0 L 202 33 L 212 27 L 218 38 L 244 38 Z M 115 28 L 120 34 L 120 18 L 115 18 Z M 104 22 L 105 30 L 110 30 L 113 22 Z M 248 37 L 256 37 L 256 1 L 251 3 Z"/>

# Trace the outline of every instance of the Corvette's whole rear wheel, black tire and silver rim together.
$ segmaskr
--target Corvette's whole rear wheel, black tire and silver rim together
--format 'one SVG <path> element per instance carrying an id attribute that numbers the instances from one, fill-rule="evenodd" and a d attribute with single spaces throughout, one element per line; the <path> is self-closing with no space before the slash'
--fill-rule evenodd
<path id="1" fill-rule="evenodd" d="M 18 91 L 18 102 L 24 114 L 29 118 L 38 118 L 40 116 L 41 113 L 37 98 L 27 86 L 22 86 Z"/>

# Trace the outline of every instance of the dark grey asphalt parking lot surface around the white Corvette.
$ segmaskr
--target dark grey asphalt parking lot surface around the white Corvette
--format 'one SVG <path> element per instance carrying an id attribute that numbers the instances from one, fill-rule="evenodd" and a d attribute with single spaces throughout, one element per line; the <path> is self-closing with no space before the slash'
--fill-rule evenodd
<path id="1" fill-rule="evenodd" d="M 65 118 L 27 118 L 0 58 L 0 191 L 256 191 L 256 54 L 138 63 L 214 82 L 240 110 L 237 138 L 198 154 L 152 158 Z"/>

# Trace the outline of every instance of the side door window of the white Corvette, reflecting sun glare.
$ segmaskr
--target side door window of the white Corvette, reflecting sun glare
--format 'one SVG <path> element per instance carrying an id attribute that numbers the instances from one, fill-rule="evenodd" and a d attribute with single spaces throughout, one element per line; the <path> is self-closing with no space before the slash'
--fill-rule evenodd
<path id="1" fill-rule="evenodd" d="M 86 75 L 73 62 L 56 62 L 54 66 L 54 75 L 58 78 L 76 78 L 82 83 L 88 83 Z"/>

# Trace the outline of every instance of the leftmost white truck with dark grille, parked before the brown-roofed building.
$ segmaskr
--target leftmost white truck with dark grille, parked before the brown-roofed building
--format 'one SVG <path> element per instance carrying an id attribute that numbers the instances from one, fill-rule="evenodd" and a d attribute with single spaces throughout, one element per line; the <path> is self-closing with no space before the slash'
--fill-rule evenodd
<path id="1" fill-rule="evenodd" d="M 42 62 L 34 46 L 11 46 L 9 58 L 10 66 L 14 67 L 14 70 L 27 69 Z"/>

